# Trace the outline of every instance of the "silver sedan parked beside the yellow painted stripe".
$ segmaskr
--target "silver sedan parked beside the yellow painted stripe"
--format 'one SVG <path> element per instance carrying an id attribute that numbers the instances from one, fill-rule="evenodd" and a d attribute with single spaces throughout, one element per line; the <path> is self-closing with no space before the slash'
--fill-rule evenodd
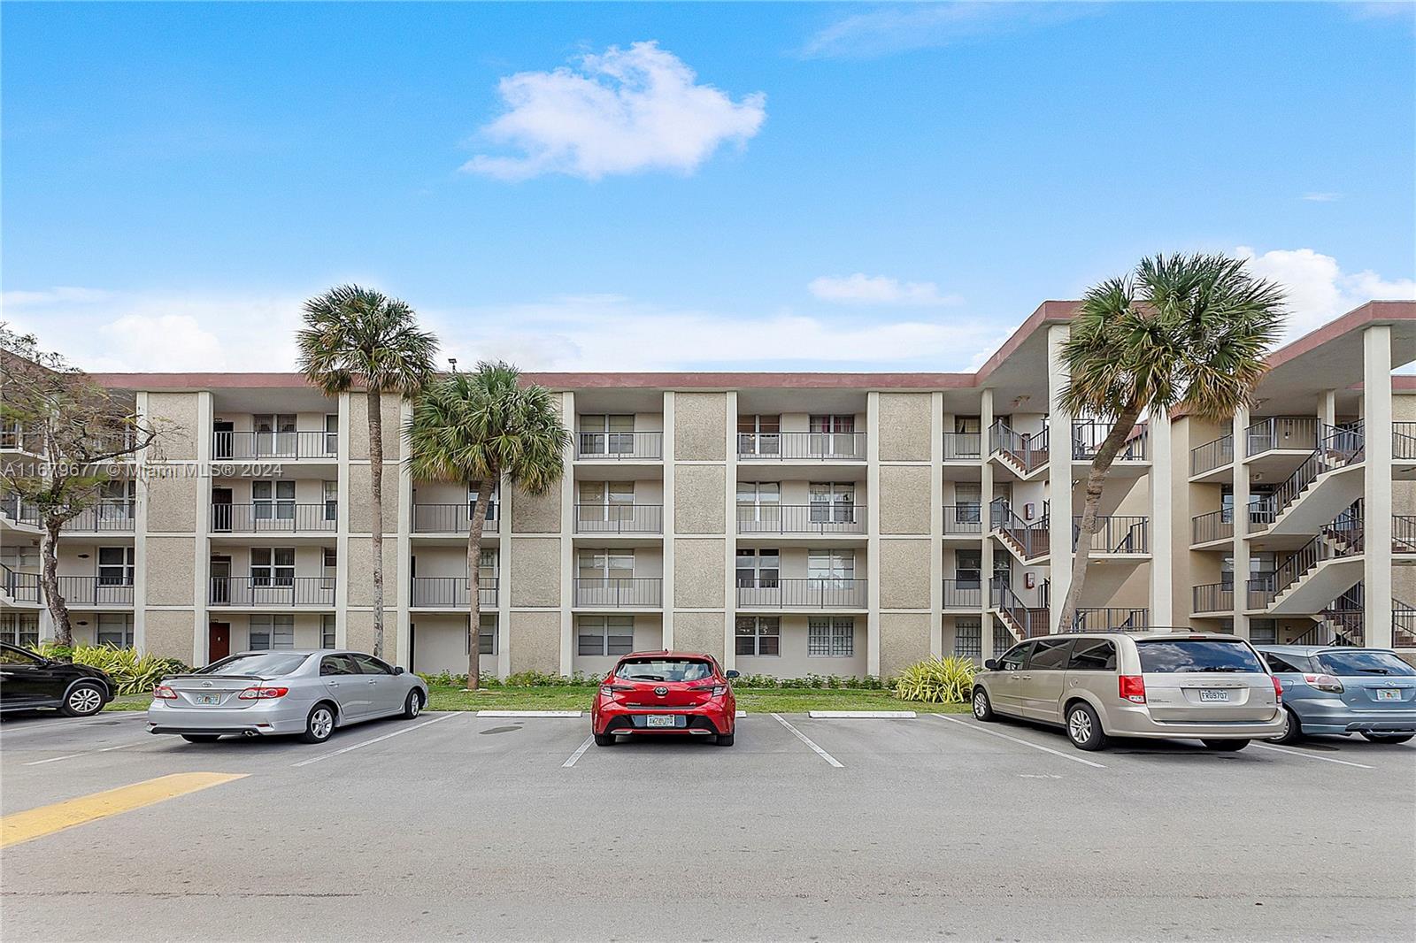
<path id="1" fill-rule="evenodd" d="M 401 715 L 415 718 L 428 685 L 362 651 L 242 651 L 191 674 L 163 678 L 147 708 L 149 733 L 210 743 L 225 733 L 299 733 L 323 743 L 336 728 Z"/>

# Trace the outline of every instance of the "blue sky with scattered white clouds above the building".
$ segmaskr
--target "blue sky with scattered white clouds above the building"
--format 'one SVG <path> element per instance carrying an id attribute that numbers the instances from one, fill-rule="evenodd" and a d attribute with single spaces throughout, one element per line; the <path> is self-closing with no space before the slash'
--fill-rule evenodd
<path id="1" fill-rule="evenodd" d="M 1416 7 L 20 4 L 4 319 L 285 370 L 360 280 L 467 362 L 967 370 L 1155 251 L 1416 295 Z"/>

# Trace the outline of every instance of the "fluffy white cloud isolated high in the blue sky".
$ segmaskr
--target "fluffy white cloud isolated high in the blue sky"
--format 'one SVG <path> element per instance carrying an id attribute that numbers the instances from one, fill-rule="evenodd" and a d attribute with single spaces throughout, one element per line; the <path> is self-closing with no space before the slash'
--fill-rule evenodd
<path id="1" fill-rule="evenodd" d="M 504 180 L 559 173 L 586 180 L 643 170 L 692 173 L 766 119 L 762 92 L 732 101 L 657 42 L 612 45 L 551 72 L 503 78 L 507 110 L 483 133 L 520 152 L 479 154 L 463 170 Z"/>

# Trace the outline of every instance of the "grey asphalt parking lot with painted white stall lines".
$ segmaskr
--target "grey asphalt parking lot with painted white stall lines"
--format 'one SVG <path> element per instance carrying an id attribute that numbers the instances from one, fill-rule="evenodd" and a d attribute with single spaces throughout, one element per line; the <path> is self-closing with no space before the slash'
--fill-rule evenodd
<path id="1" fill-rule="evenodd" d="M 588 733 L 588 718 L 464 712 L 321 746 L 193 745 L 146 733 L 142 714 L 7 719 L 7 817 L 225 776 L 58 831 L 71 807 L 28 817 L 38 837 L 3 852 L 4 936 L 1347 940 L 1416 926 L 1413 745 L 1080 753 L 967 715 L 750 715 L 726 749 Z"/>

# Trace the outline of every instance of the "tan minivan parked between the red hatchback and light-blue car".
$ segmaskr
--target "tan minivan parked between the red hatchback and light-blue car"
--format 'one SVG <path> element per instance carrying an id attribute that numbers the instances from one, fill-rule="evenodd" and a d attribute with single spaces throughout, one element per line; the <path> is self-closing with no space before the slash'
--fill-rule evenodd
<path id="1" fill-rule="evenodd" d="M 980 721 L 1008 715 L 1056 724 L 1073 746 L 1109 736 L 1192 738 L 1242 750 L 1283 732 L 1279 680 L 1233 636 L 1085 631 L 1045 636 L 990 658 L 974 677 Z"/>

